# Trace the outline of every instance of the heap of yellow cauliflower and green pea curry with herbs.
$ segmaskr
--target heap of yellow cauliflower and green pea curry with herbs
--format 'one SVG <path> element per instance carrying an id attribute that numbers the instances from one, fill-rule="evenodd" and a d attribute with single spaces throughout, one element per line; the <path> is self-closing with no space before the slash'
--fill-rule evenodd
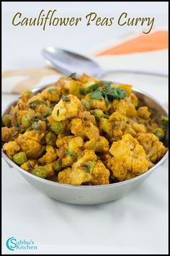
<path id="1" fill-rule="evenodd" d="M 104 185 L 145 173 L 166 153 L 164 131 L 130 85 L 76 73 L 36 95 L 21 94 L 3 116 L 3 150 L 53 182 Z"/>

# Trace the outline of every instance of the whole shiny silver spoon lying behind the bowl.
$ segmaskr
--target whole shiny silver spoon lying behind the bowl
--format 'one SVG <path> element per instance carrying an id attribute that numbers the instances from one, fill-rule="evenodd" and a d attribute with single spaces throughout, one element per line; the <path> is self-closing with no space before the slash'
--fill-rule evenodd
<path id="1" fill-rule="evenodd" d="M 87 56 L 76 54 L 73 51 L 64 50 L 61 48 L 55 48 L 49 46 L 42 50 L 42 56 L 45 57 L 50 64 L 56 69 L 66 75 L 70 75 L 73 72 L 81 75 L 83 73 L 89 74 L 93 77 L 103 77 L 109 73 L 126 72 L 126 73 L 138 73 L 138 74 L 149 74 L 167 77 L 167 72 L 163 70 L 152 71 L 144 69 L 102 69 L 99 67 L 96 61 L 90 59 Z"/>

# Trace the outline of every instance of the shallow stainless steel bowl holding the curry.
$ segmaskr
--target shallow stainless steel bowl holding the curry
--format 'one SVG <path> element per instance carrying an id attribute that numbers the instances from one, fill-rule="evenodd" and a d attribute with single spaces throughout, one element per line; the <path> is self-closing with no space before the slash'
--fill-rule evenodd
<path id="1" fill-rule="evenodd" d="M 48 86 L 48 85 L 46 85 Z M 45 87 L 46 87 L 45 86 Z M 39 93 L 42 88 L 37 88 L 32 90 L 33 93 Z M 167 111 L 164 106 L 161 106 L 161 103 L 158 103 L 154 98 L 146 93 L 143 93 L 141 90 L 133 88 L 133 92 L 138 96 L 139 100 L 146 104 L 149 108 L 156 111 L 157 121 L 161 120 L 161 116 L 167 116 Z M 6 107 L 4 114 L 7 114 L 9 108 L 14 106 L 17 101 L 12 102 L 9 106 Z M 166 132 L 165 144 L 168 145 L 168 132 Z M 118 182 L 115 184 L 108 185 L 99 185 L 99 186 L 72 186 L 68 184 L 59 184 L 57 182 L 51 182 L 47 179 L 39 178 L 33 174 L 24 171 L 22 168 L 17 166 L 3 151 L 2 156 L 6 163 L 11 168 L 16 168 L 19 174 L 21 174 L 24 179 L 27 180 L 30 184 L 40 190 L 42 193 L 51 197 L 55 200 L 60 200 L 62 202 L 68 202 L 71 204 L 79 205 L 94 205 L 103 202 L 109 202 L 112 200 L 117 200 L 120 197 L 123 197 L 128 194 L 128 192 L 137 188 L 148 176 L 150 176 L 153 171 L 164 164 L 168 157 L 168 152 L 161 158 L 155 166 L 149 169 L 146 173 L 141 174 L 133 179 L 129 179 L 125 182 Z"/>

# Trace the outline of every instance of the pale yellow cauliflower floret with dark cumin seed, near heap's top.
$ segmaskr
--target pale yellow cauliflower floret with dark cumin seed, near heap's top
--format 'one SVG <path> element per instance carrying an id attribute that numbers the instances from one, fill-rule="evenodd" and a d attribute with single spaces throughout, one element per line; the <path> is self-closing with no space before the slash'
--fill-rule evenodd
<path id="1" fill-rule="evenodd" d="M 63 121 L 71 119 L 78 115 L 81 109 L 81 101 L 74 95 L 67 95 L 65 99 L 61 99 L 55 105 L 52 111 L 52 116 L 55 121 Z"/>

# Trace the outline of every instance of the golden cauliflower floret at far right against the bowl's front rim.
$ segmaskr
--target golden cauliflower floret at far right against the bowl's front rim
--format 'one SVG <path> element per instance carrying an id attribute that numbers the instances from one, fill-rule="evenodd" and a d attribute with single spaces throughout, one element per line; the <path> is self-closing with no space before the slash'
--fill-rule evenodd
<path id="1" fill-rule="evenodd" d="M 152 133 L 139 134 L 137 140 L 146 151 L 148 159 L 153 163 L 161 159 L 167 151 L 163 142 L 159 141 Z"/>

